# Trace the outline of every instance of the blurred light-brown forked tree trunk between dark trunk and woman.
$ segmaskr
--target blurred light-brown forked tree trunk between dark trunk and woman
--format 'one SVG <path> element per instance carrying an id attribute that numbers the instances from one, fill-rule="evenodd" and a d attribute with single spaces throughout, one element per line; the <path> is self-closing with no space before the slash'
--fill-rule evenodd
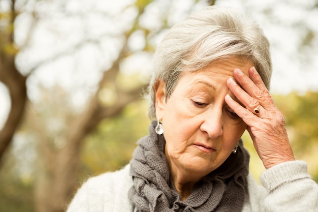
<path id="1" fill-rule="evenodd" d="M 120 59 L 120 58 L 119 58 Z M 101 83 L 114 82 L 119 72 L 118 63 L 105 72 Z M 70 198 L 74 196 L 74 189 L 78 185 L 78 169 L 80 165 L 80 150 L 85 137 L 97 127 L 105 117 L 118 115 L 126 105 L 140 98 L 145 85 L 131 91 L 116 90 L 117 101 L 113 105 L 103 106 L 98 93 L 90 101 L 83 114 L 74 118 L 65 135 L 65 147 L 54 150 L 49 140 L 39 144 L 41 164 L 38 179 L 35 182 L 35 204 L 37 212 L 61 212 L 65 210 Z"/>

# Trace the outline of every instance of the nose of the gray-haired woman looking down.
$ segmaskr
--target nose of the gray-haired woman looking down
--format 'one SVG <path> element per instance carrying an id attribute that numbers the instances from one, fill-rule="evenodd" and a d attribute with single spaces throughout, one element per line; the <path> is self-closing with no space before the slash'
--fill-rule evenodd
<path id="1" fill-rule="evenodd" d="M 211 108 L 202 113 L 202 124 L 200 129 L 209 138 L 217 138 L 223 134 L 222 108 Z"/>

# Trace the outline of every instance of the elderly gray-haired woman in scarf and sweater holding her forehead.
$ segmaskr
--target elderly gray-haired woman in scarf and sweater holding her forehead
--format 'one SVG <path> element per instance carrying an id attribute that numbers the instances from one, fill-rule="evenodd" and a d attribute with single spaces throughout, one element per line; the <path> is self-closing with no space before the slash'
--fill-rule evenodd
<path id="1" fill-rule="evenodd" d="M 68 211 L 318 211 L 268 92 L 269 44 L 249 17 L 207 7 L 173 26 L 154 56 L 149 136 L 130 164 L 89 179 Z M 258 185 L 240 140 L 267 169 Z"/>

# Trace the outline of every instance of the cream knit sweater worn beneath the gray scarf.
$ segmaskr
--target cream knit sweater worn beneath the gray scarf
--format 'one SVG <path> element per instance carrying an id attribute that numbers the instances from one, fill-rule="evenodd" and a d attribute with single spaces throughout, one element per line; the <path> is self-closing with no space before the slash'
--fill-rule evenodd
<path id="1" fill-rule="evenodd" d="M 133 212 L 128 190 L 133 186 L 130 165 L 92 177 L 78 190 L 67 212 Z M 276 165 L 256 183 L 248 175 L 243 212 L 318 212 L 318 185 L 303 161 Z"/>

